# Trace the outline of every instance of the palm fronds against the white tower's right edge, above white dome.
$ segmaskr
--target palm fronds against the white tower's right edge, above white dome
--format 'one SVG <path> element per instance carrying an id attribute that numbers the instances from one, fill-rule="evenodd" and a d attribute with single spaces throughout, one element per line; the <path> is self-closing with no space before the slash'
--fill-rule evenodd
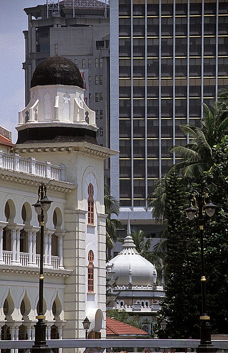
<path id="1" fill-rule="evenodd" d="M 113 214 L 118 216 L 119 214 L 119 203 L 110 195 L 110 188 L 105 185 L 105 195 L 104 195 L 104 204 L 105 204 L 105 213 L 107 214 L 106 218 L 106 254 L 109 257 L 109 252 L 113 249 L 113 242 L 116 241 L 119 237 L 118 228 L 122 227 L 121 222 L 118 219 L 111 218 Z"/>

